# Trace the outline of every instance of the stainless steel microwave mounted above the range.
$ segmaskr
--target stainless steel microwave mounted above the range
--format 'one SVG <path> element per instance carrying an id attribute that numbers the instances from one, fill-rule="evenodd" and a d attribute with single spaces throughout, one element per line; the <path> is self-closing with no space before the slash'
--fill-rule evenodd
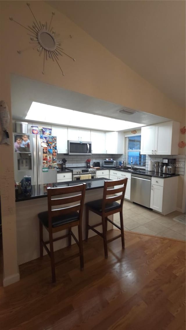
<path id="1" fill-rule="evenodd" d="M 69 155 L 91 155 L 92 143 L 87 141 L 71 141 L 68 140 Z"/>

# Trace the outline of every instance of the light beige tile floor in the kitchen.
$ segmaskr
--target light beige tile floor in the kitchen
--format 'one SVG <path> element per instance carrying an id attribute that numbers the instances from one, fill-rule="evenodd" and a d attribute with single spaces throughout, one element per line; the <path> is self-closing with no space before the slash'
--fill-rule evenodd
<path id="1" fill-rule="evenodd" d="M 180 214 L 174 211 L 161 215 L 125 200 L 123 204 L 124 230 L 185 241 L 186 226 L 173 220 Z M 114 216 L 114 221 L 120 223 L 118 213 Z"/>

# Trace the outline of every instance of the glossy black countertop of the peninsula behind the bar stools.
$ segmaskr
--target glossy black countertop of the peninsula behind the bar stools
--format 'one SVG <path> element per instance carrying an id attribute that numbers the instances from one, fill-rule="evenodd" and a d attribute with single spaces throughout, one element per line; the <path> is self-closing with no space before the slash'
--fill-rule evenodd
<path id="1" fill-rule="evenodd" d="M 104 187 L 105 180 L 109 180 L 109 179 L 97 178 L 97 179 L 88 179 L 88 180 L 82 180 L 82 181 L 55 182 L 55 183 L 32 185 L 31 196 L 24 196 L 23 194 L 16 194 L 16 202 L 46 197 L 47 196 L 47 187 L 69 187 L 72 185 L 76 185 L 76 184 L 85 182 L 86 190 L 99 189 L 99 188 Z"/>

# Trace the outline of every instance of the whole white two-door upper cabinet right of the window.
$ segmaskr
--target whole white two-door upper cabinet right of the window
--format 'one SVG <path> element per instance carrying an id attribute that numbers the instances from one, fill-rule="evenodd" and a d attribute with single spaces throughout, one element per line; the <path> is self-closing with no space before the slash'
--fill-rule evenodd
<path id="1" fill-rule="evenodd" d="M 164 123 L 141 128 L 142 155 L 177 155 L 180 123 Z"/>

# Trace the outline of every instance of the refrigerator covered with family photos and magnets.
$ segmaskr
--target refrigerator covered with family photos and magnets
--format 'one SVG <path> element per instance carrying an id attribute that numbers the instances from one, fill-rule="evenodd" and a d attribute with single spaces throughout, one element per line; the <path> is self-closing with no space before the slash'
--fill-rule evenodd
<path id="1" fill-rule="evenodd" d="M 57 140 L 55 136 L 13 133 L 14 176 L 21 182 L 31 177 L 31 185 L 57 182 Z"/>

